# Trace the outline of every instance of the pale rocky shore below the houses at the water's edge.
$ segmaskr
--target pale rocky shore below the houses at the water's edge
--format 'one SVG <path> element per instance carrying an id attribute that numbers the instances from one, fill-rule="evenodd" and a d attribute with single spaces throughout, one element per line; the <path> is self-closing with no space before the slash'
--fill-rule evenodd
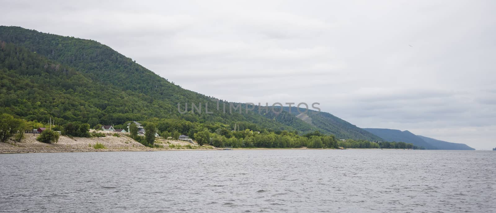
<path id="1" fill-rule="evenodd" d="M 159 148 L 150 148 L 136 142 L 128 136 L 105 137 L 67 137 L 60 136 L 59 142 L 46 144 L 36 140 L 33 134 L 25 134 L 21 142 L 8 140 L 0 142 L 0 153 L 34 153 L 34 152 L 109 152 L 109 151 L 168 151 L 168 150 L 217 150 L 212 146 L 198 146 L 185 141 L 157 139 L 155 144 Z M 95 149 L 93 146 L 101 143 L 103 149 Z"/>

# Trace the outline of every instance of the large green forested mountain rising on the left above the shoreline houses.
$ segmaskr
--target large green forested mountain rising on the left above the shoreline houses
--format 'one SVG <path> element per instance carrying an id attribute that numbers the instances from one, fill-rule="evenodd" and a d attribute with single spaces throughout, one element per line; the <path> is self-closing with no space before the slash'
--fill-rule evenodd
<path id="1" fill-rule="evenodd" d="M 222 107 L 216 109 L 213 97 L 174 85 L 92 40 L 0 26 L 0 45 L 0 113 L 26 120 L 47 122 L 52 117 L 56 124 L 77 121 L 118 125 L 127 121 L 176 119 L 224 124 L 231 129 L 236 125 L 251 130 L 297 130 L 301 134 L 318 130 L 339 138 L 378 138 L 357 133 L 363 130 L 325 113 L 314 116 L 315 124 L 288 112 L 224 113 Z M 225 102 L 219 101 L 221 106 Z M 182 110 L 188 103 L 189 111 L 191 103 L 201 103 L 203 113 L 181 114 L 178 103 Z M 205 103 L 212 114 L 204 113 Z M 332 119 L 323 119 L 326 116 Z"/>

